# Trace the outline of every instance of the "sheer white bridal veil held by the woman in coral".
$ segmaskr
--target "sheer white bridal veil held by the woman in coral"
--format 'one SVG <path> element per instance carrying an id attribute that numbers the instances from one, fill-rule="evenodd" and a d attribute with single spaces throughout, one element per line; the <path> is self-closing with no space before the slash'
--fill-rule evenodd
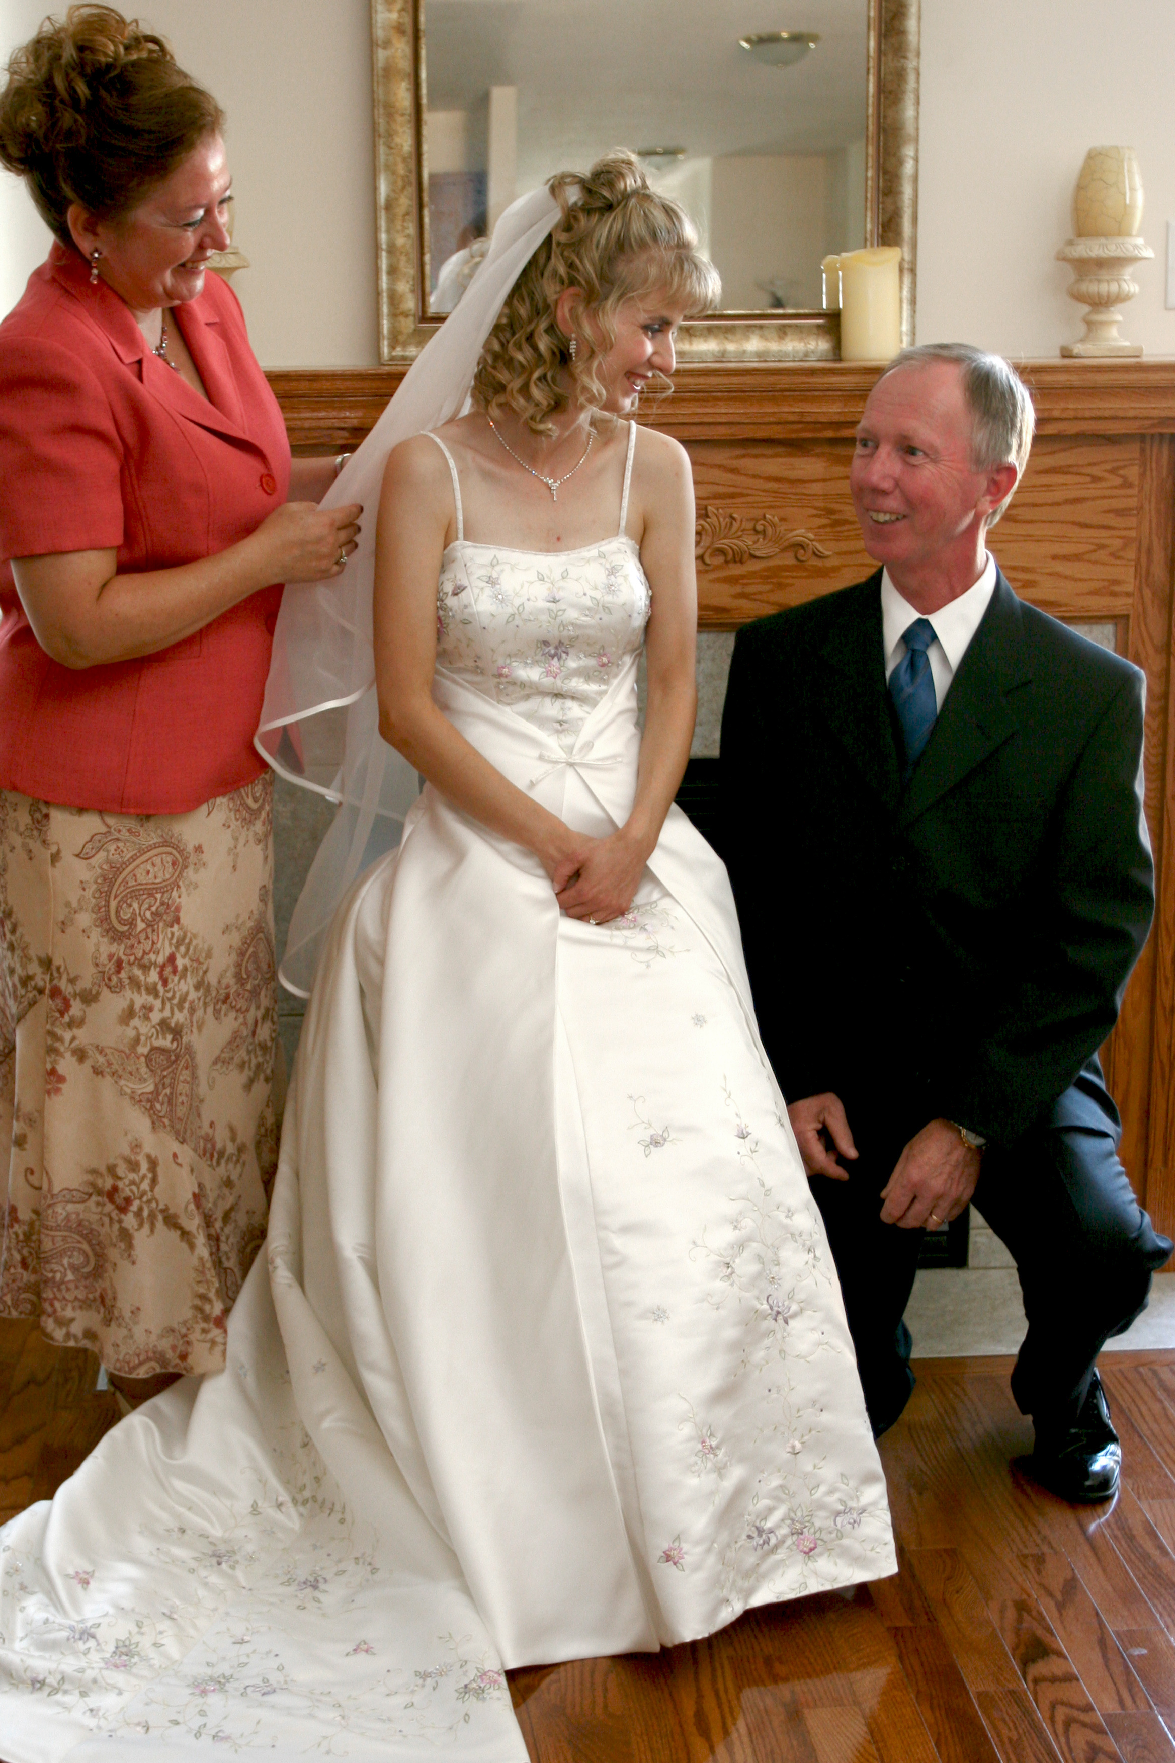
<path id="1" fill-rule="evenodd" d="M 354 878 L 400 843 L 403 816 L 419 792 L 416 772 L 377 728 L 372 589 L 384 464 L 400 441 L 469 409 L 481 346 L 558 215 L 548 189 L 506 210 L 458 307 L 322 497 L 324 508 L 363 502 L 359 548 L 342 575 L 287 587 L 282 598 L 254 744 L 282 777 L 338 804 L 298 896 L 278 970 L 282 984 L 299 996 L 310 994 L 335 908 Z"/>

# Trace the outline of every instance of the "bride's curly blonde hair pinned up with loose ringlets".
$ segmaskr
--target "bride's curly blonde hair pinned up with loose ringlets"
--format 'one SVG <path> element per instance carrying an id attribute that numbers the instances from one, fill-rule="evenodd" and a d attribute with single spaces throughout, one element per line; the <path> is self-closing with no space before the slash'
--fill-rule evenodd
<path id="1" fill-rule="evenodd" d="M 710 312 L 721 296 L 719 272 L 698 250 L 698 229 L 684 208 L 648 185 L 634 153 L 617 150 L 587 176 L 560 171 L 548 189 L 560 208 L 555 229 L 514 282 L 474 374 L 472 397 L 490 416 L 513 411 L 534 434 L 551 435 L 551 416 L 580 404 L 599 409 L 599 365 L 617 340 L 617 312 L 650 294 Z M 571 338 L 555 323 L 567 287 L 583 294 L 590 331 Z"/>

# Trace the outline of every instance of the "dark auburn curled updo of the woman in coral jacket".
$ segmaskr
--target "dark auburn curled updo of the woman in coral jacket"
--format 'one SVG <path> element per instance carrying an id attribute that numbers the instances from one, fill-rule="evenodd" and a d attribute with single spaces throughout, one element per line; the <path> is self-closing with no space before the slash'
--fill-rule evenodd
<path id="1" fill-rule="evenodd" d="M 162 37 L 109 5 L 48 18 L 9 60 L 0 92 L 0 164 L 28 178 L 63 245 L 79 203 L 116 220 L 224 125 Z"/>

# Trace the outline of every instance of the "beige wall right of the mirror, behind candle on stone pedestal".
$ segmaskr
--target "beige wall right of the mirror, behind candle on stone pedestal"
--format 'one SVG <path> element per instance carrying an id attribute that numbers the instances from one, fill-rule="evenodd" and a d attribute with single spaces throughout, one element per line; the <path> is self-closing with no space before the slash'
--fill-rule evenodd
<path id="1" fill-rule="evenodd" d="M 1138 152 L 1143 236 L 1124 335 L 1175 354 L 1164 310 L 1175 220 L 1171 0 L 921 0 L 918 337 L 1055 356 L 1082 333 L 1053 252 L 1089 146 Z"/>

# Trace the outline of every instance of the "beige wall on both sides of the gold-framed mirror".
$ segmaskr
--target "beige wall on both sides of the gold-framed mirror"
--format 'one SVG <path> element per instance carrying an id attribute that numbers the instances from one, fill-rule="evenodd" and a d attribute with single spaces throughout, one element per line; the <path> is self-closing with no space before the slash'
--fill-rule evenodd
<path id="1" fill-rule="evenodd" d="M 51 0 L 0 0 L 0 53 Z M 63 0 L 55 0 L 63 9 Z M 229 111 L 236 279 L 266 365 L 375 361 L 368 0 L 141 0 L 143 14 Z M 981 14 L 981 28 L 976 19 Z M 921 0 L 918 331 L 1009 354 L 1053 354 L 1080 331 L 1053 261 L 1085 148 L 1142 160 L 1157 252 L 1127 333 L 1175 353 L 1163 254 L 1175 219 L 1171 0 Z M 0 178 L 0 310 L 44 254 L 23 190 Z M 768 272 L 770 273 L 770 272 Z"/>

